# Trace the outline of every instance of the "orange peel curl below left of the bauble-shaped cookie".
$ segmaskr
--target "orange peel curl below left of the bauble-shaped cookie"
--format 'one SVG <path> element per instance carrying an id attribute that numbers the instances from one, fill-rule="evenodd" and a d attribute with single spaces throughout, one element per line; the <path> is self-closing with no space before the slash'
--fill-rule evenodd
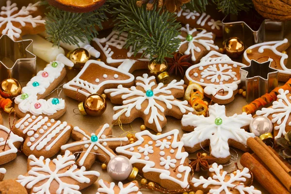
<path id="1" fill-rule="evenodd" d="M 201 85 L 190 82 L 186 88 L 184 99 L 189 102 L 195 114 L 206 115 L 208 104 L 203 101 L 204 91 Z"/>

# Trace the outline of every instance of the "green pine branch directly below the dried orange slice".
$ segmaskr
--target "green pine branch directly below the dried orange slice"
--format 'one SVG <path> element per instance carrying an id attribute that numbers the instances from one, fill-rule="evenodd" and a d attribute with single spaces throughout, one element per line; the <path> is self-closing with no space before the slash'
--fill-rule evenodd
<path id="1" fill-rule="evenodd" d="M 98 34 L 95 26 L 102 29 L 101 22 L 108 19 L 105 15 L 107 5 L 89 13 L 71 13 L 50 6 L 46 0 L 42 4 L 49 9 L 46 14 L 47 39 L 57 46 L 60 46 L 60 41 L 78 45 L 78 38 L 85 41 L 83 37 L 91 41 Z"/>

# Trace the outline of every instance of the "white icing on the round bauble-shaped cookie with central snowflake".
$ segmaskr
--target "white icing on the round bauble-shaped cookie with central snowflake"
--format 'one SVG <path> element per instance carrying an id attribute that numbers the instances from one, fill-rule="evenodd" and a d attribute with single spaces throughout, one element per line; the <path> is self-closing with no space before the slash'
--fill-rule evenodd
<path id="1" fill-rule="evenodd" d="M 212 55 L 216 55 L 218 57 L 211 57 Z M 225 64 L 225 65 L 222 65 Z M 226 66 L 227 64 L 227 66 Z M 215 66 L 214 66 L 215 65 Z M 208 66 L 206 69 L 204 67 Z M 235 72 L 232 72 L 232 68 L 236 67 L 244 67 L 246 65 L 232 61 L 227 55 L 221 54 L 217 51 L 210 51 L 205 57 L 200 60 L 199 64 L 192 65 L 186 70 L 185 76 L 187 80 L 192 81 L 194 83 L 198 83 L 201 86 L 204 86 L 204 92 L 208 95 L 215 95 L 215 98 L 226 100 L 233 96 L 233 91 L 238 89 L 238 84 L 241 83 L 240 76 L 239 79 L 235 77 Z M 199 70 L 203 70 L 201 72 L 200 81 L 196 81 L 191 78 L 192 74 L 190 72 L 199 68 Z M 218 69 L 217 69 L 218 68 Z M 225 72 L 228 69 L 227 72 Z M 224 72 L 222 72 L 224 71 Z M 195 75 L 194 75 L 195 76 Z M 211 80 L 212 83 L 204 83 L 204 79 Z M 223 83 L 223 81 L 232 80 L 231 83 Z M 227 94 L 225 96 L 216 94 L 219 90 L 224 89 Z"/>

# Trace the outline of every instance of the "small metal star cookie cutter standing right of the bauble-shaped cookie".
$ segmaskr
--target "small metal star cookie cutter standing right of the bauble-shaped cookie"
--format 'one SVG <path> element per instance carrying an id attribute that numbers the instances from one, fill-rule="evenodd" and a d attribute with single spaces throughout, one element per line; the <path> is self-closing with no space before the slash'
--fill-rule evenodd
<path id="1" fill-rule="evenodd" d="M 270 67 L 271 61 L 259 63 L 251 60 L 249 66 L 241 67 L 241 84 L 246 88 L 246 101 L 251 102 L 278 86 L 278 70 Z"/>

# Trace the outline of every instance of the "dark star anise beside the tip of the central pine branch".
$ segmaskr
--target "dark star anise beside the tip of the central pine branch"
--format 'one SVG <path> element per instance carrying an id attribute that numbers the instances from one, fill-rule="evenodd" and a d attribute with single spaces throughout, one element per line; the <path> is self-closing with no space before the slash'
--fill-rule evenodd
<path id="1" fill-rule="evenodd" d="M 167 61 L 167 64 L 169 66 L 169 74 L 174 74 L 177 76 L 178 72 L 179 74 L 184 77 L 185 72 L 188 67 L 190 67 L 192 64 L 191 61 L 191 54 L 190 55 L 183 55 L 180 52 L 177 52 L 173 58 L 165 57 L 165 60 Z"/>

